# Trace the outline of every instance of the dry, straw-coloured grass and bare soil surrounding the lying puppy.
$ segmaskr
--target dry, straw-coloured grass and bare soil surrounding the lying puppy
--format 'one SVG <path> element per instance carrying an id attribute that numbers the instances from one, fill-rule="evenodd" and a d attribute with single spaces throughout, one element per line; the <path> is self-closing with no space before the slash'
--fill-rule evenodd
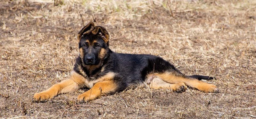
<path id="1" fill-rule="evenodd" d="M 256 1 L 1 1 L 0 118 L 254 118 Z M 94 21 L 119 53 L 153 54 L 186 74 L 216 77 L 220 93 L 139 88 L 77 104 L 84 92 L 33 103 L 68 78 L 76 33 Z M 152 97 L 151 97 L 152 93 Z"/>

